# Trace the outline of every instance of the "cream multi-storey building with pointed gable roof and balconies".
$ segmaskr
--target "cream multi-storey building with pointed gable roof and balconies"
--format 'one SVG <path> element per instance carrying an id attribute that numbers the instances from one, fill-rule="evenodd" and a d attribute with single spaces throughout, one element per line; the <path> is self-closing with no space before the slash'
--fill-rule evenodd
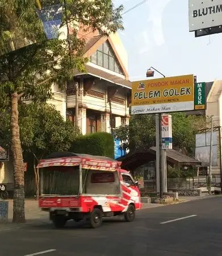
<path id="1" fill-rule="evenodd" d="M 78 126 L 82 134 L 110 133 L 111 125 L 115 129 L 129 122 L 131 81 L 127 72 L 127 52 L 118 34 L 104 38 L 97 32 L 80 28 L 78 37 L 85 39 L 84 57 L 89 58 L 85 72 L 74 71 L 79 87 Z M 64 118 L 74 123 L 76 89 L 73 81 L 68 82 L 66 90 L 53 86 L 53 92 L 51 103 Z"/>

